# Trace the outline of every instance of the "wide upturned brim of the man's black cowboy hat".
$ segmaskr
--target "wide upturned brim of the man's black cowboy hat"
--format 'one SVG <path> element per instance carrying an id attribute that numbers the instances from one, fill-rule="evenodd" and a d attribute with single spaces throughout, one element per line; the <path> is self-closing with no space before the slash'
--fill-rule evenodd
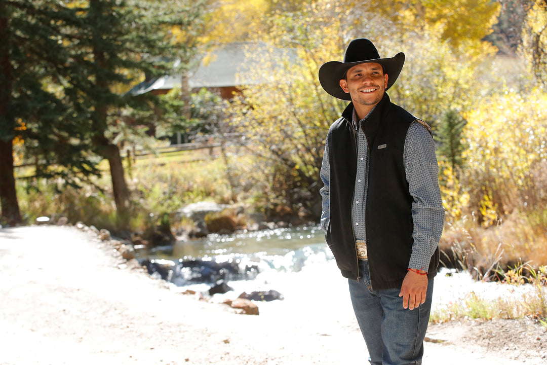
<path id="1" fill-rule="evenodd" d="M 321 83 L 323 89 L 325 89 L 325 91 L 327 91 L 330 95 L 342 100 L 351 100 L 350 94 L 342 90 L 340 87 L 340 80 L 344 78 L 344 74 L 348 69 L 353 66 L 360 65 L 361 63 L 380 63 L 380 65 L 383 66 L 384 73 L 387 73 L 388 75 L 386 86 L 386 90 L 388 90 L 391 86 L 393 86 L 395 80 L 399 77 L 401 69 L 403 69 L 405 54 L 399 52 L 389 59 L 375 59 L 348 63 L 330 61 L 324 63 L 323 66 L 319 68 L 319 83 Z"/>

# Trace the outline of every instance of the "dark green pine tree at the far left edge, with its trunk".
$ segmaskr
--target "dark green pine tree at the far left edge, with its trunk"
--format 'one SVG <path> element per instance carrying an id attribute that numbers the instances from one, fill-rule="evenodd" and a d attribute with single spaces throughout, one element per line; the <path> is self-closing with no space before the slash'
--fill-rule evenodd
<path id="1" fill-rule="evenodd" d="M 37 176 L 97 173 L 86 156 L 86 129 L 63 101 L 68 54 L 61 39 L 72 10 L 50 0 L 0 0 L 0 202 L 2 221 L 21 222 L 13 141 L 24 141 Z M 53 165 L 66 169 L 51 169 Z"/>

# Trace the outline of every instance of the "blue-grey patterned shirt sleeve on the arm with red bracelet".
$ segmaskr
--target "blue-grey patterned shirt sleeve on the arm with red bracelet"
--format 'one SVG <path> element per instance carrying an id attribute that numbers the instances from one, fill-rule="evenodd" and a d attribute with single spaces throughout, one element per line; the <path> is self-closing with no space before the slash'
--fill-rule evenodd
<path id="1" fill-rule="evenodd" d="M 426 270 L 443 234 L 445 211 L 439 188 L 439 166 L 435 142 L 426 126 L 410 125 L 404 147 L 406 180 L 412 202 L 414 245 L 409 268 Z"/>

